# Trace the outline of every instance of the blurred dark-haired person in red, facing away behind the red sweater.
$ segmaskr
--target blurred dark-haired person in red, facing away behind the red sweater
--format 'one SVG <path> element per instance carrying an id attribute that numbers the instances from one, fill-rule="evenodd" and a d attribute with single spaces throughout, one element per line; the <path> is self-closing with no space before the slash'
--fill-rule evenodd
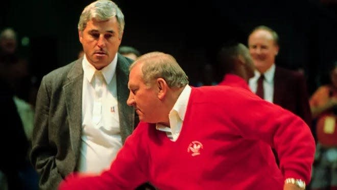
<path id="1" fill-rule="evenodd" d="M 248 48 L 242 43 L 230 42 L 219 51 L 223 80 L 219 85 L 243 87 L 249 91 L 248 81 L 254 77 L 254 64 Z"/>

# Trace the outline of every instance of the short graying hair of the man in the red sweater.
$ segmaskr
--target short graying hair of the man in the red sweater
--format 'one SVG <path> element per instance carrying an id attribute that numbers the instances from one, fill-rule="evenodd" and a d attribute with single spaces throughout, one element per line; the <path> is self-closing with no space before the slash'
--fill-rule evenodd
<path id="1" fill-rule="evenodd" d="M 163 78 L 168 87 L 180 88 L 188 84 L 188 77 L 179 66 L 177 60 L 170 54 L 150 52 L 138 57 L 130 66 L 130 70 L 137 64 L 143 63 L 142 79 L 146 85 L 157 78 Z"/>

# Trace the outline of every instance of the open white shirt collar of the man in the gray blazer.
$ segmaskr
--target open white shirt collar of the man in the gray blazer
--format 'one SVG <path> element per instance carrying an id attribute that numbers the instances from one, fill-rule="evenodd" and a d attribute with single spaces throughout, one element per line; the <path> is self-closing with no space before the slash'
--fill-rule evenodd
<path id="1" fill-rule="evenodd" d="M 110 62 L 109 65 L 107 65 L 106 67 L 104 67 L 101 72 L 103 74 L 104 80 L 106 81 L 107 84 L 109 84 L 111 82 L 111 79 L 113 77 L 113 75 L 115 74 L 116 71 L 116 65 L 117 65 L 117 53 L 115 55 L 115 57 L 113 58 L 113 60 Z M 84 77 L 87 78 L 87 80 L 89 82 L 91 82 L 93 75 L 95 73 L 95 71 L 97 71 L 96 68 L 94 68 L 88 61 L 88 59 L 86 58 L 86 55 L 83 58 L 82 61 L 82 68 L 83 68 L 83 72 L 84 72 Z"/>

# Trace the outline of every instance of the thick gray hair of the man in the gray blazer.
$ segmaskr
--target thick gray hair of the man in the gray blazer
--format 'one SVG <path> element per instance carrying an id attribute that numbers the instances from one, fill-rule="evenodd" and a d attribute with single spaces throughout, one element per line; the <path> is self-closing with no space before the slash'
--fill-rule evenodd
<path id="1" fill-rule="evenodd" d="M 121 9 L 119 9 L 118 6 L 110 0 L 98 0 L 86 6 L 80 16 L 77 27 L 80 31 L 83 31 L 87 22 L 93 18 L 99 21 L 105 21 L 113 17 L 116 17 L 117 19 L 119 37 L 121 37 L 125 26 L 124 15 Z"/>

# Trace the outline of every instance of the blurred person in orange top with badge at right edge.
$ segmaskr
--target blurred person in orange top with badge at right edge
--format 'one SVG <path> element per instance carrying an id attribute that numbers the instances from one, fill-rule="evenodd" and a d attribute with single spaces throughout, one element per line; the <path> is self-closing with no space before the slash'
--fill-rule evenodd
<path id="1" fill-rule="evenodd" d="M 310 97 L 316 120 L 316 156 L 311 189 L 337 189 L 337 61 L 329 69 L 330 82 Z"/>

